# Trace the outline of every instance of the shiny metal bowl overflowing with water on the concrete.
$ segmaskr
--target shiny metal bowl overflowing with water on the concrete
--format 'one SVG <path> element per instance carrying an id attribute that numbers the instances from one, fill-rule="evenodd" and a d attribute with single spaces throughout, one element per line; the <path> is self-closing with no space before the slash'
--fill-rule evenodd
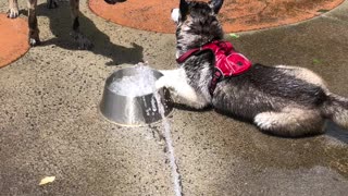
<path id="1" fill-rule="evenodd" d="M 152 69 L 148 73 L 151 73 L 156 78 L 162 76 L 159 71 Z M 141 126 L 158 122 L 162 119 L 153 93 L 144 96 L 127 97 L 117 95 L 110 89 L 110 85 L 115 79 L 137 74 L 139 74 L 139 69 L 133 66 L 119 70 L 107 78 L 100 102 L 100 111 L 109 121 L 119 125 Z M 161 103 L 164 107 L 164 115 L 167 115 L 173 110 L 170 91 L 166 88 L 162 88 L 159 90 L 159 94 Z"/>

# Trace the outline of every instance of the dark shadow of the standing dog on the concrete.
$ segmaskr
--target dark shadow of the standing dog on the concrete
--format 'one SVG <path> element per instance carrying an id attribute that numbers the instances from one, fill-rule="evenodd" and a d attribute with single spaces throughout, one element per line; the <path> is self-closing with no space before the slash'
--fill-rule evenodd
<path id="1" fill-rule="evenodd" d="M 78 44 L 71 37 L 72 20 L 70 5 L 66 2 L 60 2 L 58 9 L 47 9 L 46 3 L 41 3 L 37 8 L 38 16 L 47 16 L 50 21 L 50 29 L 55 38 L 41 40 L 41 46 L 55 45 L 58 47 L 78 50 Z M 27 14 L 26 14 L 27 15 Z M 135 64 L 142 62 L 144 48 L 132 42 L 132 48 L 114 45 L 110 41 L 110 37 L 97 28 L 91 20 L 83 13 L 79 14 L 80 32 L 92 42 L 90 49 L 95 54 L 101 54 L 110 58 L 112 61 L 107 65 L 119 65 L 123 63 Z M 38 24 L 39 28 L 42 24 Z M 116 35 L 117 36 L 117 35 Z"/>

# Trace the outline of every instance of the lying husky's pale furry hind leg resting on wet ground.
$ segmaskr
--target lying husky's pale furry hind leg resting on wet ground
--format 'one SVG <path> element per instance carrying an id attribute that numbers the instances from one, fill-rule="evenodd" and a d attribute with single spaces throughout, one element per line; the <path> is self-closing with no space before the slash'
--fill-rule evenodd
<path id="1" fill-rule="evenodd" d="M 254 117 L 262 131 L 279 136 L 302 136 L 324 132 L 324 119 L 316 110 L 284 109 L 281 112 L 262 112 Z"/>

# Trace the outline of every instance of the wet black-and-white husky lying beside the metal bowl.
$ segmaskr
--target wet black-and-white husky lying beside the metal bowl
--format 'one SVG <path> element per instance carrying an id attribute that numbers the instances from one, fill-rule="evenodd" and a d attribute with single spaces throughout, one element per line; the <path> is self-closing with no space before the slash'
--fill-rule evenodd
<path id="1" fill-rule="evenodd" d="M 172 10 L 176 23 L 176 58 L 191 49 L 223 39 L 216 19 L 223 0 L 209 3 L 181 0 Z M 215 57 L 209 50 L 189 56 L 176 70 L 161 71 L 156 87 L 169 88 L 179 103 L 216 111 L 253 122 L 261 131 L 278 136 L 324 132 L 325 119 L 348 128 L 348 99 L 330 93 L 313 72 L 295 66 L 252 64 L 236 76 L 223 77 L 210 91 Z"/>

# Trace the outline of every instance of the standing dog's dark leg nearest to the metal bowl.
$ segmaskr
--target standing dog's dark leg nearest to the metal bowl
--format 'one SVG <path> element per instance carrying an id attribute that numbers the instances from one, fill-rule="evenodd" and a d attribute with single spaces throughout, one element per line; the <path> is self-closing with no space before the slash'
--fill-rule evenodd
<path id="1" fill-rule="evenodd" d="M 72 36 L 77 41 L 79 49 L 90 49 L 92 44 L 79 32 L 79 0 L 70 0 L 70 8 L 73 20 Z"/>

